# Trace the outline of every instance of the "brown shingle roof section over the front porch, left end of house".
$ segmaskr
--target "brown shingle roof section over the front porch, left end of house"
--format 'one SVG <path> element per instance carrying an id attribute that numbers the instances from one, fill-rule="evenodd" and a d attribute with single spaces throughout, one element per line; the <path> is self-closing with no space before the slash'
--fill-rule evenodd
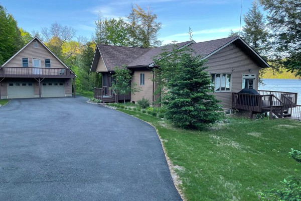
<path id="1" fill-rule="evenodd" d="M 149 48 L 112 45 L 97 45 L 97 47 L 108 71 L 113 70 L 115 66 L 127 65 L 149 50 Z"/>

